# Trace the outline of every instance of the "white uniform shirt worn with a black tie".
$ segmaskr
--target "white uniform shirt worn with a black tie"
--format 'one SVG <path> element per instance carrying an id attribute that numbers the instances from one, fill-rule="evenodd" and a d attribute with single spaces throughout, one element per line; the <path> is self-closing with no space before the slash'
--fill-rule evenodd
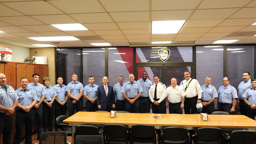
<path id="1" fill-rule="evenodd" d="M 148 97 L 152 102 L 154 101 L 154 98 L 155 98 L 155 89 L 157 89 L 156 98 L 159 99 L 157 102 L 160 103 L 167 96 L 166 95 L 166 86 L 160 82 L 157 84 L 157 87 L 156 87 L 156 84 L 152 84 L 150 86 L 149 91 L 148 91 Z"/>

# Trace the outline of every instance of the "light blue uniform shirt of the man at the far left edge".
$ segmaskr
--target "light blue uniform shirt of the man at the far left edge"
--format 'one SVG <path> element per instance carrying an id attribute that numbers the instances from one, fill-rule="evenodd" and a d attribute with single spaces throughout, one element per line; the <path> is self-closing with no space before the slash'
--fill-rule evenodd
<path id="1" fill-rule="evenodd" d="M 6 92 L 5 88 L 0 85 L 0 104 L 6 108 L 12 108 L 13 102 L 15 100 L 18 100 L 19 97 L 15 93 L 12 86 L 7 85 L 7 84 L 5 86 L 6 86 L 7 92 Z M 4 111 L 4 110 L 0 110 L 0 112 L 6 113 L 6 111 Z"/>

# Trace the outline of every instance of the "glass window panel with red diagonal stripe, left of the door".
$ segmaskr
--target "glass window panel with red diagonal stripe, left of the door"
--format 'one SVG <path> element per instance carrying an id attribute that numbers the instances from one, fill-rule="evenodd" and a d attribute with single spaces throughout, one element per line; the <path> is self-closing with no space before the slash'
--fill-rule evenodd
<path id="1" fill-rule="evenodd" d="M 108 84 L 114 86 L 120 75 L 127 82 L 129 74 L 133 74 L 133 48 L 108 48 Z"/>

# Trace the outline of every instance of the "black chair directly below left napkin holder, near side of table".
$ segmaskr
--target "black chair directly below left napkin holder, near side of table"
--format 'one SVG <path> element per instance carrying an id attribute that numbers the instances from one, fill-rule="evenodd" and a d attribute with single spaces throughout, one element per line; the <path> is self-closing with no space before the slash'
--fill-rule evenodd
<path id="1" fill-rule="evenodd" d="M 129 129 L 127 129 L 124 125 L 118 124 L 107 124 L 103 128 L 103 137 L 104 142 L 113 141 L 113 142 L 125 142 L 128 144 L 128 134 Z"/>

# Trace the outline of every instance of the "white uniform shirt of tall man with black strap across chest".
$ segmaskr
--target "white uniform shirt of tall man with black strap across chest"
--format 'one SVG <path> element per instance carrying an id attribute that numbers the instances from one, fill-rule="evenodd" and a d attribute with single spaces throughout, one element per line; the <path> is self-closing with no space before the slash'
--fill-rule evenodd
<path id="1" fill-rule="evenodd" d="M 180 87 L 185 90 L 186 88 L 186 84 L 189 83 L 189 81 L 191 80 L 191 78 L 186 81 L 183 80 L 181 83 L 180 83 Z M 201 86 L 199 84 L 199 82 L 196 80 L 196 79 L 192 79 L 192 81 L 190 82 L 187 90 L 186 90 L 186 98 L 193 98 L 195 97 L 196 95 L 198 95 L 198 99 L 201 99 L 202 98 L 202 92 L 203 90 L 201 89 Z"/>

